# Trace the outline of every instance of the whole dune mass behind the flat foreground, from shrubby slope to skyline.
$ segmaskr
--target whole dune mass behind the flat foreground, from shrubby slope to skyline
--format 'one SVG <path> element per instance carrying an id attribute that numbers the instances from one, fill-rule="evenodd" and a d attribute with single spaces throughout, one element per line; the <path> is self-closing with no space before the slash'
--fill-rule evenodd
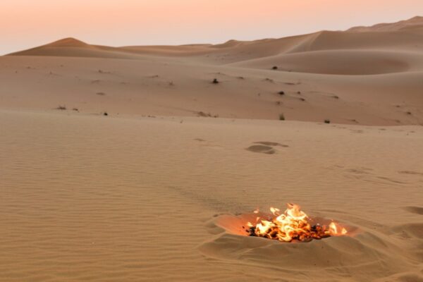
<path id="1" fill-rule="evenodd" d="M 106 47 L 66 38 L 0 58 L 2 106 L 422 124 L 422 26 L 415 17 L 215 45 Z"/>

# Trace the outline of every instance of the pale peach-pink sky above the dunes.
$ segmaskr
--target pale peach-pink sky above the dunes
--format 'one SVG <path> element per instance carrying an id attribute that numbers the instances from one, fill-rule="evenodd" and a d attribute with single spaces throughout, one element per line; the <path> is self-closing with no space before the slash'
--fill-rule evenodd
<path id="1" fill-rule="evenodd" d="M 0 54 L 75 37 L 109 46 L 222 43 L 423 16 L 423 0 L 1 0 Z"/>

